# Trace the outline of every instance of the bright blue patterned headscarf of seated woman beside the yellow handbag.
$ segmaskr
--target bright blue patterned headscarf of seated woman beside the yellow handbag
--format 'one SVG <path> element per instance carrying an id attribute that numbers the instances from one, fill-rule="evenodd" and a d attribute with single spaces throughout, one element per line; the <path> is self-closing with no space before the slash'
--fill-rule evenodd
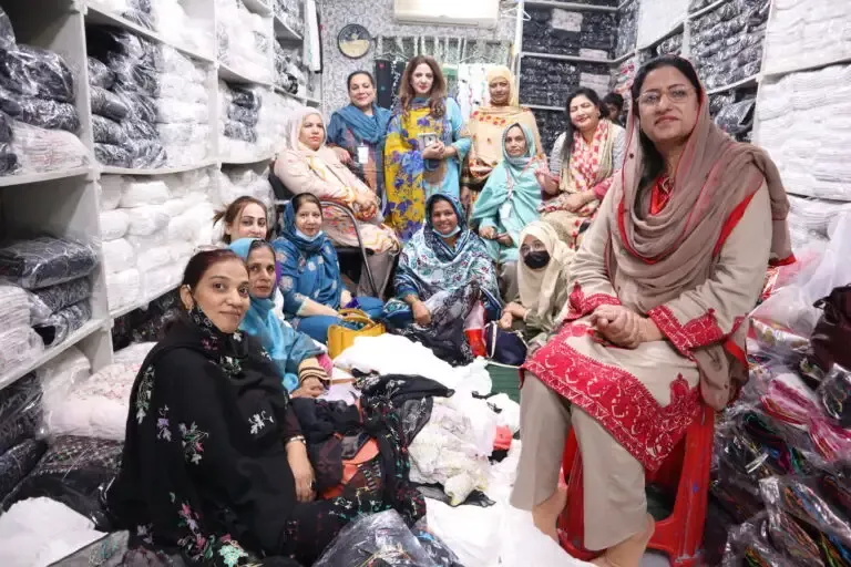
<path id="1" fill-rule="evenodd" d="M 332 309 L 340 307 L 344 286 L 337 250 L 324 233 L 312 240 L 299 236 L 291 202 L 284 209 L 281 235 L 271 246 L 280 265 L 278 287 L 286 313 L 297 315 L 305 298 Z"/>

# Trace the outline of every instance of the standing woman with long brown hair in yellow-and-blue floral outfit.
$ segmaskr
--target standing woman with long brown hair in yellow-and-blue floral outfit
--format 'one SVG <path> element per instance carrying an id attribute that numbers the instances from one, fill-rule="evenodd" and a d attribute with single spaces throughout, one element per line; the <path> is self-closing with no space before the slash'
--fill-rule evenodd
<path id="1" fill-rule="evenodd" d="M 402 241 L 422 227 L 429 197 L 460 197 L 461 164 L 469 150 L 461 107 L 447 96 L 440 65 L 430 56 L 413 58 L 385 144 L 386 220 Z"/>

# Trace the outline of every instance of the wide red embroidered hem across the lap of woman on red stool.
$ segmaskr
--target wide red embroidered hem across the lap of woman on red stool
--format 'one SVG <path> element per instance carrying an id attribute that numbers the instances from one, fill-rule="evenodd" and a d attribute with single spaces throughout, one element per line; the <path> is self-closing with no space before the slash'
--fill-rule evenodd
<path id="1" fill-rule="evenodd" d="M 572 326 L 567 326 L 572 327 Z M 523 364 L 543 383 L 599 422 L 648 472 L 656 471 L 700 410 L 700 391 L 679 375 L 663 408 L 647 388 L 618 367 L 581 354 L 562 334 Z"/>

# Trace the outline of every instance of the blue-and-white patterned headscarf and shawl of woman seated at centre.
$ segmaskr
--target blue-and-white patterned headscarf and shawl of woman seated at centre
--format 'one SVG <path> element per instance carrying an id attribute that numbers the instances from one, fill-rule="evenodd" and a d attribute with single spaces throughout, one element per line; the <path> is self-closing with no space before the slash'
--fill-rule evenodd
<path id="1" fill-rule="evenodd" d="M 431 210 L 438 200 L 445 200 L 455 210 L 461 231 L 453 247 L 434 230 Z M 499 313 L 500 288 L 496 271 L 482 239 L 466 226 L 461 203 L 450 195 L 432 195 L 426 203 L 426 225 L 404 245 L 396 272 L 399 298 L 410 293 L 426 300 L 438 291 L 453 291 L 478 281 L 484 292 L 485 307 Z"/>

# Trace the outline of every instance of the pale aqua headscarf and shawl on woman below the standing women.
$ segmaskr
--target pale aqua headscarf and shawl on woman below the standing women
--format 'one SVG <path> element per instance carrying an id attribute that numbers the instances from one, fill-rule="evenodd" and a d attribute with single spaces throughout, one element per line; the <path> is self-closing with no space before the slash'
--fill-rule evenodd
<path id="1" fill-rule="evenodd" d="M 520 126 L 526 137 L 526 153 L 520 157 L 511 157 L 505 151 L 505 135 L 514 126 Z M 514 241 L 512 246 L 503 246 L 496 240 L 484 241 L 491 258 L 500 264 L 517 261 L 520 233 L 540 217 L 541 185 L 535 178 L 536 154 L 535 138 L 527 127 L 515 123 L 505 128 L 502 162 L 491 172 L 473 206 L 470 220 L 476 228 L 492 226 L 496 234 L 507 234 Z"/>

